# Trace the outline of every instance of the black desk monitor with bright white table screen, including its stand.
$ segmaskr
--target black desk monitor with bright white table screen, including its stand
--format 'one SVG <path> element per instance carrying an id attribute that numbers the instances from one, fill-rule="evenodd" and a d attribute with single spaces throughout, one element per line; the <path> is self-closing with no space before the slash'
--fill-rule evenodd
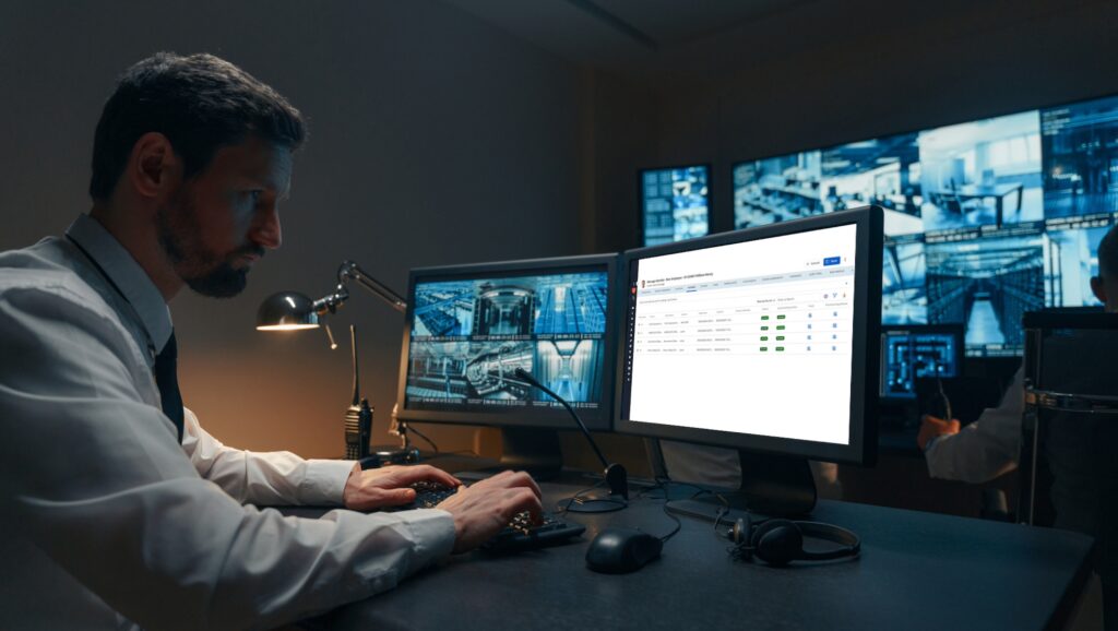
<path id="1" fill-rule="evenodd" d="M 866 207 L 627 252 L 615 428 L 746 450 L 737 499 L 766 512 L 814 506 L 808 458 L 872 462 L 881 223 Z"/>

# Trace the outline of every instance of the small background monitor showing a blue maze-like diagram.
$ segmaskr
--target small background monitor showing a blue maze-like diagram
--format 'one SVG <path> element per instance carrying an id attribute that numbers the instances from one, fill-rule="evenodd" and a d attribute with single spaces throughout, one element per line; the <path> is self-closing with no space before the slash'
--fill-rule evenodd
<path id="1" fill-rule="evenodd" d="M 916 399 L 917 379 L 963 374 L 963 324 L 881 328 L 882 399 Z"/>

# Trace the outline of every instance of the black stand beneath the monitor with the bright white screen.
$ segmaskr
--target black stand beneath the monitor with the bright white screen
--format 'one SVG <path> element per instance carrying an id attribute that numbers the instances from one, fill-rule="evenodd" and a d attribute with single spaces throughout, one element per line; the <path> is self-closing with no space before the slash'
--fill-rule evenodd
<path id="1" fill-rule="evenodd" d="M 714 521 L 719 512 L 723 521 L 733 521 L 750 514 L 770 517 L 804 517 L 815 508 L 815 478 L 806 458 L 738 451 L 741 463 L 741 486 L 732 491 L 708 493 L 693 499 L 667 502 L 667 510 Z M 727 503 L 719 499 L 721 497 Z"/>

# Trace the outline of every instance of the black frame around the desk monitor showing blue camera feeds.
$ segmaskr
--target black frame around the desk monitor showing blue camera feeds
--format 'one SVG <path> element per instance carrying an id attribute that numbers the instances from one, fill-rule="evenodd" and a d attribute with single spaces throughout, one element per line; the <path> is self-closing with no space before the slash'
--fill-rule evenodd
<path id="1" fill-rule="evenodd" d="M 606 333 L 603 338 L 603 384 L 601 413 L 598 417 L 579 414 L 587 428 L 608 431 L 612 426 L 614 379 L 616 373 L 610 369 L 615 357 L 615 340 L 617 336 L 617 262 L 618 254 L 593 254 L 581 256 L 562 256 L 551 258 L 529 258 L 517 261 L 500 261 L 492 263 L 475 263 L 466 265 L 440 265 L 416 267 L 408 274 L 408 308 L 404 321 L 404 340 L 400 345 L 400 369 L 397 398 L 399 408 L 397 417 L 416 423 L 445 423 L 457 425 L 485 425 L 494 427 L 529 427 L 547 430 L 577 430 L 575 421 L 562 407 L 515 407 L 508 412 L 446 412 L 434 409 L 416 409 L 406 407 L 408 354 L 411 342 L 411 322 L 415 317 L 415 289 L 419 280 L 443 281 L 493 274 L 495 276 L 529 275 L 533 273 L 568 273 L 581 269 L 605 267 L 607 277 Z"/>

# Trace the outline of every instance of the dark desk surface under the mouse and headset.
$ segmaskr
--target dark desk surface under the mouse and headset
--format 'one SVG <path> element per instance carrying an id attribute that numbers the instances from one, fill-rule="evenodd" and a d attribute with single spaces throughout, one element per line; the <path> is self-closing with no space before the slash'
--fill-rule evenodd
<path id="1" fill-rule="evenodd" d="M 546 483 L 546 506 L 580 483 Z M 637 499 L 576 543 L 458 556 L 396 590 L 337 610 L 331 629 L 1043 629 L 1067 620 L 1091 539 L 1074 533 L 821 501 L 813 518 L 853 529 L 856 561 L 774 568 L 733 562 L 711 524 L 683 517 L 663 556 L 634 574 L 587 569 L 607 526 L 663 535 L 662 500 Z"/>

